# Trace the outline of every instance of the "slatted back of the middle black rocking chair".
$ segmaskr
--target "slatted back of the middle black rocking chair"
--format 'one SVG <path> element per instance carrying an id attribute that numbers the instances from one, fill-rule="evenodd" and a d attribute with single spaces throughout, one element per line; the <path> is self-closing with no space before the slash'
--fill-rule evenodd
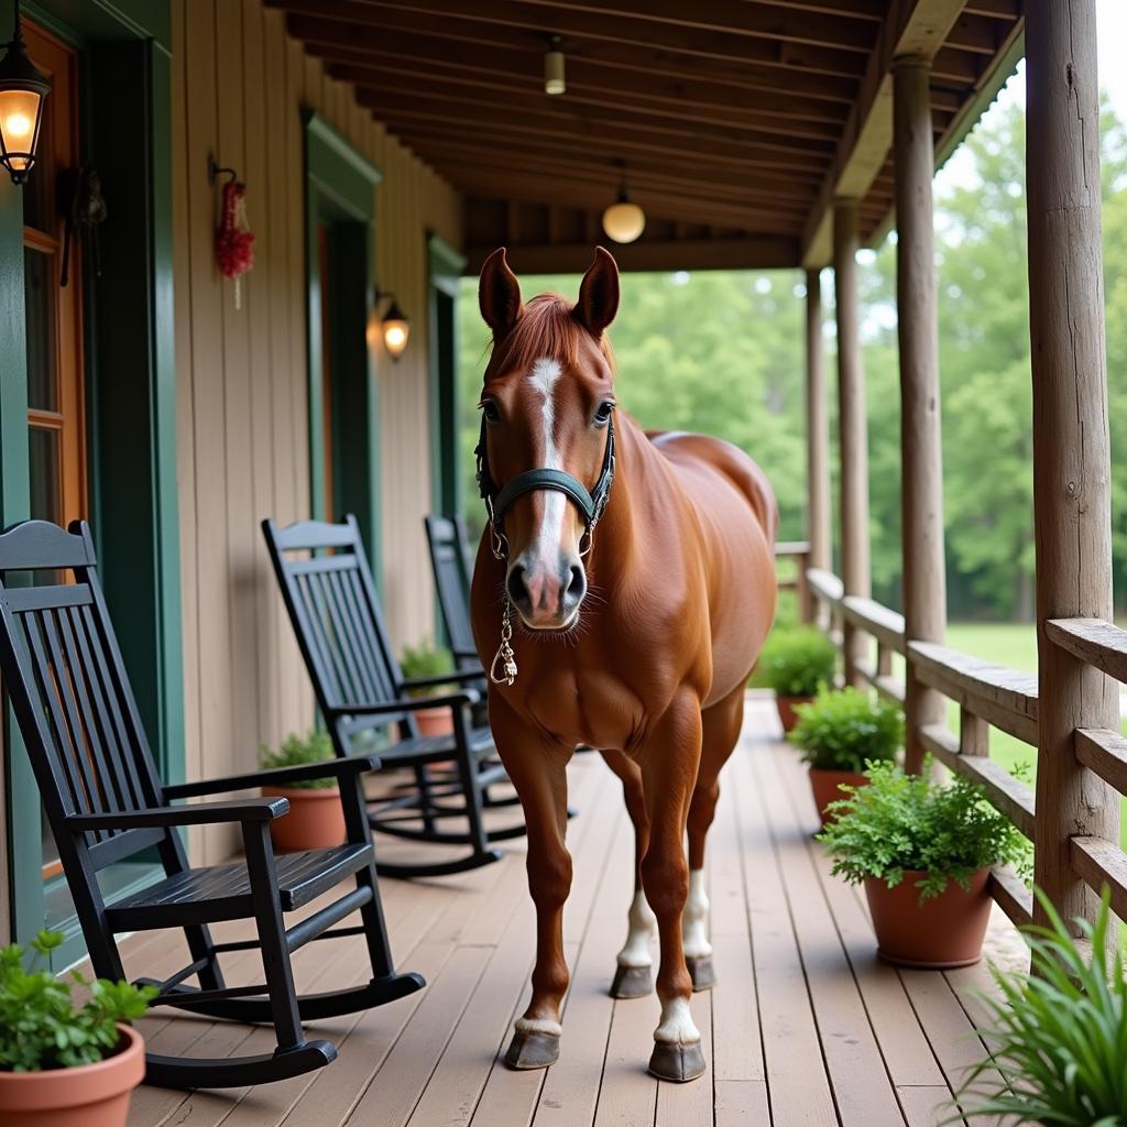
<path id="1" fill-rule="evenodd" d="M 349 515 L 341 524 L 302 521 L 285 529 L 268 520 L 263 521 L 263 534 L 322 712 L 347 713 L 349 704 L 397 700 L 402 671 L 356 518 Z M 352 733 L 391 724 L 405 736 L 418 735 L 407 712 L 375 722 L 345 719 L 334 726 L 337 753 L 348 754 Z"/>

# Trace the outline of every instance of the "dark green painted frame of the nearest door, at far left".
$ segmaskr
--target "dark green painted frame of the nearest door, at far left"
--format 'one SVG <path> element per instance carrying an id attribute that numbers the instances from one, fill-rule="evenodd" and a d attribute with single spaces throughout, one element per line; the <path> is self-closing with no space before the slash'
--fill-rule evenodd
<path id="1" fill-rule="evenodd" d="M 0 0 L 0 26 L 11 21 Z M 172 352 L 171 18 L 168 0 L 27 0 L 28 18 L 82 52 L 83 159 L 109 218 L 87 279 L 91 526 L 103 583 L 150 740 L 184 778 L 184 676 Z M 35 175 L 34 171 L 32 174 Z M 23 201 L 0 177 L 0 524 L 28 512 Z M 87 264 L 89 265 L 89 264 Z M 43 926 L 38 796 L 6 717 L 14 931 Z M 46 891 L 50 891 L 47 889 Z M 60 962 L 81 955 L 73 920 Z"/>

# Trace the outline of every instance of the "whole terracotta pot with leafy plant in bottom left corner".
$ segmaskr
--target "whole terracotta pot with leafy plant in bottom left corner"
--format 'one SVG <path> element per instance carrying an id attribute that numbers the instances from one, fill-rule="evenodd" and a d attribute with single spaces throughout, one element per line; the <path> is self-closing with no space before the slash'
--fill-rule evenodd
<path id="1" fill-rule="evenodd" d="M 32 956 L 0 948 L 0 1122 L 5 1127 L 125 1127 L 144 1079 L 144 1042 L 127 1022 L 156 997 L 152 986 L 56 978 L 45 961 L 62 943 L 41 931 Z M 76 1005 L 71 990 L 89 991 Z"/>

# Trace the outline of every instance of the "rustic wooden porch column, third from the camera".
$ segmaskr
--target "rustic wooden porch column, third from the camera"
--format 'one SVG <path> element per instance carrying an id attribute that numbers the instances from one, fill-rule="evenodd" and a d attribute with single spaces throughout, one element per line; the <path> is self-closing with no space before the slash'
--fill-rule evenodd
<path id="1" fill-rule="evenodd" d="M 834 287 L 837 307 L 837 415 L 841 445 L 842 584 L 846 595 L 869 596 L 869 438 L 861 365 L 861 312 L 857 284 L 857 201 L 834 205 Z M 842 627 L 845 682 L 864 684 L 857 671 L 866 636 Z"/>

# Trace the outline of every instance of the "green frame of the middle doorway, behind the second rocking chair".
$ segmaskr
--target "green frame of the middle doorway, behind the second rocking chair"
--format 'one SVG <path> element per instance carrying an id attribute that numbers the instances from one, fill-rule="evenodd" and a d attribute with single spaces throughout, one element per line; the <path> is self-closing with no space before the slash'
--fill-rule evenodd
<path id="1" fill-rule="evenodd" d="M 312 110 L 305 123 L 305 292 L 309 349 L 311 508 L 325 520 L 325 398 L 318 230 L 328 230 L 334 283 L 332 490 L 338 513 L 354 513 L 376 580 L 381 573 L 379 384 L 367 332 L 375 317 L 375 187 L 380 170 Z"/>

